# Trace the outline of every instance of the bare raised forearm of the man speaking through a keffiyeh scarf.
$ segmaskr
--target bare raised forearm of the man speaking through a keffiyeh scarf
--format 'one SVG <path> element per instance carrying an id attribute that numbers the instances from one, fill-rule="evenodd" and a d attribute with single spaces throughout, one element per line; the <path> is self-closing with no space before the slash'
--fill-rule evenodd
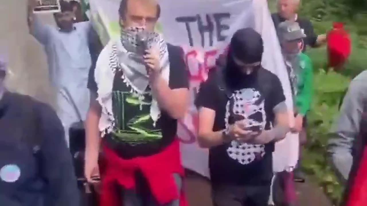
<path id="1" fill-rule="evenodd" d="M 172 118 L 184 117 L 188 107 L 188 89 L 182 88 L 186 90 L 185 92 L 175 91 L 161 76 L 151 79 L 150 85 L 161 108 L 167 111 Z"/>

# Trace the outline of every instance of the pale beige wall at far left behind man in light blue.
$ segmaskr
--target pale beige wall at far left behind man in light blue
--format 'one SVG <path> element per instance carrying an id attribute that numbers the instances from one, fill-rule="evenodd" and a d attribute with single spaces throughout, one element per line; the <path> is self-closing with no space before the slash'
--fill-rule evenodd
<path id="1" fill-rule="evenodd" d="M 52 104 L 45 52 L 28 32 L 26 5 L 27 0 L 1 0 L 0 4 L 0 52 L 9 63 L 7 86 Z M 54 24 L 51 14 L 42 14 L 42 19 Z"/>

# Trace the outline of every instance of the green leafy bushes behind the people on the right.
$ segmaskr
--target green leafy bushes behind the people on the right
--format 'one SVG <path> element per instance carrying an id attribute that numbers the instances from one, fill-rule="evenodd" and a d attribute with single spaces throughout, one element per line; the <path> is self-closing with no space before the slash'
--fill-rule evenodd
<path id="1" fill-rule="evenodd" d="M 276 11 L 276 0 L 269 0 L 269 9 Z M 326 47 L 312 48 L 307 54 L 314 66 L 314 95 L 308 114 L 308 144 L 304 149 L 302 168 L 316 181 L 337 205 L 343 187 L 327 161 L 327 141 L 338 106 L 349 81 L 366 70 L 367 1 L 366 0 L 303 0 L 299 15 L 309 18 L 316 34 L 327 33 L 333 22 L 344 22 L 352 39 L 352 53 L 340 73 L 326 73 Z"/>

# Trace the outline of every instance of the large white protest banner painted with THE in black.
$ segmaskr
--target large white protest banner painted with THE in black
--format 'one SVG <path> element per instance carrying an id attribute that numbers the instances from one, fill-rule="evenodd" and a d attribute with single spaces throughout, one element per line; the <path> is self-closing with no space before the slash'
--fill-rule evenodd
<path id="1" fill-rule="evenodd" d="M 106 44 L 120 32 L 120 0 L 89 0 L 89 3 L 91 21 L 102 43 Z M 163 33 L 168 43 L 183 48 L 190 71 L 190 108 L 186 117 L 179 121 L 177 132 L 181 140 L 182 164 L 187 169 L 209 177 L 208 150 L 200 148 L 196 141 L 198 119 L 194 99 L 200 82 L 206 80 L 208 70 L 215 65 L 215 59 L 224 52 L 236 30 L 252 27 L 262 34 L 265 50 L 262 64 L 265 69 L 280 77 L 287 106 L 292 110 L 288 74 L 275 28 L 266 0 L 159 0 L 159 3 L 161 17 L 156 30 Z M 288 135 L 286 139 L 298 138 Z M 286 143 L 282 147 L 288 148 L 287 141 L 283 142 Z M 276 171 L 296 164 L 298 144 L 294 147 L 297 152 L 291 152 L 295 155 L 285 152 L 291 158 L 278 161 Z M 284 149 L 281 148 L 280 151 Z"/>

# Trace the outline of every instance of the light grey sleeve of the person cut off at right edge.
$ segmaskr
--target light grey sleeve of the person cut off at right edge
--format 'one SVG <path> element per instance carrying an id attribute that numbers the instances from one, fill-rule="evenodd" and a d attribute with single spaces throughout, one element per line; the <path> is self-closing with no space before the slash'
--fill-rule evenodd
<path id="1" fill-rule="evenodd" d="M 339 119 L 331 130 L 331 138 L 328 142 L 331 161 L 343 181 L 348 179 L 353 163 L 353 143 L 359 133 L 363 104 L 367 99 L 366 80 L 357 77 L 350 83 L 340 109 Z"/>

